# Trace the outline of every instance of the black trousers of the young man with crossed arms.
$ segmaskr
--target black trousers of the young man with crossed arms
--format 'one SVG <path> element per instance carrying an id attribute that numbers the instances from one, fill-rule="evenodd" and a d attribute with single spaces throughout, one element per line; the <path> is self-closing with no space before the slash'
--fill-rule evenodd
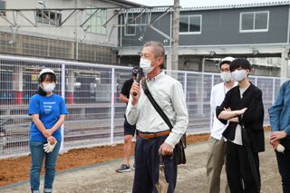
<path id="1" fill-rule="evenodd" d="M 259 157 L 252 152 L 259 185 L 261 184 L 259 171 Z M 256 193 L 256 183 L 247 158 L 244 146 L 237 145 L 227 140 L 227 182 L 232 193 Z M 244 183 L 244 186 L 243 186 Z M 244 189 L 245 188 L 245 189 Z"/>

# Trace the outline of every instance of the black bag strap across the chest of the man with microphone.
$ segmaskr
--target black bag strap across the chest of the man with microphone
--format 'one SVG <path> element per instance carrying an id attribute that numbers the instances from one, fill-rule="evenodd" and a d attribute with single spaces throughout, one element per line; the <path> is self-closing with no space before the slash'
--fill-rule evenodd
<path id="1" fill-rule="evenodd" d="M 143 79 L 141 81 L 141 86 L 142 86 L 144 93 L 147 95 L 149 101 L 153 105 L 154 109 L 160 114 L 160 117 L 166 122 L 166 124 L 169 126 L 169 129 L 172 130 L 173 126 L 172 126 L 171 122 L 169 121 L 169 118 L 164 113 L 164 111 L 161 110 L 160 105 L 154 100 L 151 92 L 148 89 L 146 79 Z"/>

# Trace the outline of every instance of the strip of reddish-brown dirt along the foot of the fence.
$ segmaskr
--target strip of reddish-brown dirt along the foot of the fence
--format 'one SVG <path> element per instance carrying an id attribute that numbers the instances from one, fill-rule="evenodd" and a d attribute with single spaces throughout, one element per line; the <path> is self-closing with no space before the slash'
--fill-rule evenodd
<path id="1" fill-rule="evenodd" d="M 198 143 L 206 141 L 208 138 L 208 133 L 189 135 L 187 137 L 187 143 Z M 135 142 L 131 143 L 131 147 L 131 156 L 133 156 Z M 123 158 L 122 149 L 123 144 L 117 144 L 115 146 L 93 147 L 90 149 L 83 148 L 69 150 L 67 153 L 63 153 L 58 156 L 55 171 L 58 172 L 114 159 L 121 159 Z M 0 187 L 29 179 L 30 167 L 30 155 L 17 159 L 0 159 Z M 44 175 L 44 169 L 42 169 L 41 175 Z"/>

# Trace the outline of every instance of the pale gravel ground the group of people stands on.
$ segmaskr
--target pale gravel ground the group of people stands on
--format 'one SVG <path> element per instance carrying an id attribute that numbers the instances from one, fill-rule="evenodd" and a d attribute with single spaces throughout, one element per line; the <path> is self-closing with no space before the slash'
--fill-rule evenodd
<path id="1" fill-rule="evenodd" d="M 261 193 L 282 193 L 281 178 L 278 173 L 275 152 L 268 142 L 270 132 L 266 132 L 266 151 L 259 154 L 262 178 Z M 187 164 L 179 165 L 178 183 L 175 192 L 206 193 L 208 189 L 205 164 L 208 143 L 189 145 L 186 149 Z M 82 159 L 82 158 L 76 158 Z M 95 164 L 79 169 L 58 172 L 53 183 L 53 192 L 131 192 L 134 171 L 117 173 L 114 170 L 122 159 Z M 133 158 L 131 158 L 131 165 Z M 15 174 L 16 175 L 16 174 Z M 221 189 L 224 189 L 226 174 L 221 175 Z M 43 189 L 43 179 L 41 180 Z M 29 192 L 29 181 L 25 180 L 0 188 L 0 192 Z M 221 191 L 223 192 L 223 191 Z"/>

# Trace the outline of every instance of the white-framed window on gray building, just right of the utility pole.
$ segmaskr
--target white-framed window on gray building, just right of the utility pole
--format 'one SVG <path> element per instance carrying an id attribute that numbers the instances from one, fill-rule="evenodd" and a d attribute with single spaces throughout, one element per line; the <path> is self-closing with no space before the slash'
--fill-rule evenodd
<path id="1" fill-rule="evenodd" d="M 180 16 L 179 34 L 201 34 L 201 14 Z"/>

